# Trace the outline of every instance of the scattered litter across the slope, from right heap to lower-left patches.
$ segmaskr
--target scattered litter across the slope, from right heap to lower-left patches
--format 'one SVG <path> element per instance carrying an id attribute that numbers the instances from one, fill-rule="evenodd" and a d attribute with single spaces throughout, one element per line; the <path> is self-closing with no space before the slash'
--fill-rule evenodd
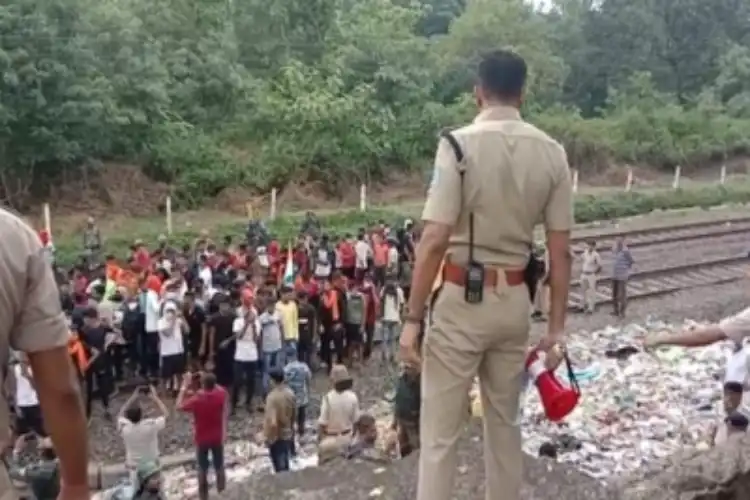
<path id="1" fill-rule="evenodd" d="M 722 414 L 720 381 L 733 351 L 731 343 L 649 352 L 636 347 L 644 337 L 695 325 L 647 320 L 571 334 L 567 347 L 581 386 L 580 403 L 563 422 L 551 423 L 537 391 L 527 383 L 519 415 L 524 451 L 612 481 L 658 467 L 674 455 L 708 449 L 710 431 Z M 556 375 L 567 383 L 565 367 Z M 478 384 L 470 396 L 471 414 L 481 417 Z M 390 402 L 380 401 L 367 411 L 375 417 L 381 437 L 392 432 Z M 316 442 L 314 432 L 305 436 L 292 470 L 317 466 Z M 268 450 L 255 443 L 233 443 L 226 454 L 228 483 L 272 471 Z M 193 467 L 165 471 L 163 484 L 170 500 L 190 497 L 198 489 Z M 371 497 L 380 495 L 381 488 L 370 492 Z"/>

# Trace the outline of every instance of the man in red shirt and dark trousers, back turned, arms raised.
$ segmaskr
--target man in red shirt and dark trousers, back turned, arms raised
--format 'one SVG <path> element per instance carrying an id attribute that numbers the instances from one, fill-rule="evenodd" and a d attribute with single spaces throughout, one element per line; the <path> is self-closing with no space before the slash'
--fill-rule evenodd
<path id="1" fill-rule="evenodd" d="M 193 414 L 193 430 L 198 462 L 198 497 L 208 499 L 208 467 L 214 466 L 216 489 L 219 493 L 226 488 L 224 471 L 224 439 L 226 422 L 229 416 L 227 391 L 216 383 L 213 373 L 201 376 L 201 388 L 191 394 L 192 374 L 186 373 L 177 396 L 177 408 Z M 209 454 L 211 460 L 209 462 Z"/>

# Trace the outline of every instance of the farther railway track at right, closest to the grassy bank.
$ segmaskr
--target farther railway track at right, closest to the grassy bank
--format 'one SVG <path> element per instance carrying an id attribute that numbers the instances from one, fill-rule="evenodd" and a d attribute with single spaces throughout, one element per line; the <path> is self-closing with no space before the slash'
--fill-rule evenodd
<path id="1" fill-rule="evenodd" d="M 582 247 L 589 240 L 597 242 L 600 254 L 608 253 L 615 239 L 623 237 L 629 248 L 646 247 L 666 243 L 688 242 L 731 234 L 750 234 L 750 217 L 738 217 L 719 221 L 703 221 L 679 226 L 638 229 L 634 231 L 607 232 L 601 235 L 578 236 L 571 238 L 571 246 Z"/>

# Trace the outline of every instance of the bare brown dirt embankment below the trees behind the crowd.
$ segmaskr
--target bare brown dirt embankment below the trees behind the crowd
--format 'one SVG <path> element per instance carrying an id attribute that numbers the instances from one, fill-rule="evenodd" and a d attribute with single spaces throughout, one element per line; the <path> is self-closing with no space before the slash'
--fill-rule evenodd
<path id="1" fill-rule="evenodd" d="M 734 158 L 723 164 L 727 167 L 728 175 L 750 172 L 748 157 Z M 686 169 L 682 179 L 686 185 L 691 182 L 717 182 L 721 165 L 717 163 L 700 169 Z M 672 182 L 673 177 L 669 172 L 647 166 L 611 165 L 596 173 L 582 173 L 580 185 L 594 188 L 624 186 L 629 169 L 633 170 L 636 187 L 668 186 Z M 393 206 L 418 201 L 424 197 L 425 183 L 423 175 L 394 174 L 383 183 L 367 187 L 367 202 L 369 205 Z M 337 209 L 359 204 L 360 186 L 348 186 L 335 198 L 328 191 L 322 182 L 288 184 L 277 193 L 277 210 Z M 86 175 L 52 186 L 49 199 L 33 203 L 26 212 L 36 223 L 41 220 L 42 204 L 48 202 L 55 217 L 55 226 L 73 228 L 82 226 L 89 215 L 105 220 L 113 216 L 132 218 L 163 214 L 170 192 L 168 184 L 154 181 L 138 166 L 105 163 L 95 171 L 89 170 Z M 259 194 L 243 187 L 227 188 L 202 208 L 212 214 L 244 215 L 248 203 L 255 210 L 267 212 L 271 203 L 270 193 Z"/>

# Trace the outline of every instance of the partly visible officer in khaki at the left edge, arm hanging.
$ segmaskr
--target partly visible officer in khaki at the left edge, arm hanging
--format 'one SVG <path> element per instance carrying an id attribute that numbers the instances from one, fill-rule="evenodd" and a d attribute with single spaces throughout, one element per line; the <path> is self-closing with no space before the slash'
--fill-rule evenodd
<path id="1" fill-rule="evenodd" d="M 60 459 L 60 500 L 88 500 L 86 417 L 68 356 L 69 332 L 52 268 L 39 236 L 0 209 L 0 386 L 9 348 L 28 354 L 44 425 Z M 0 449 L 10 439 L 8 406 L 0 396 Z M 0 500 L 15 500 L 8 471 L 0 467 Z"/>

